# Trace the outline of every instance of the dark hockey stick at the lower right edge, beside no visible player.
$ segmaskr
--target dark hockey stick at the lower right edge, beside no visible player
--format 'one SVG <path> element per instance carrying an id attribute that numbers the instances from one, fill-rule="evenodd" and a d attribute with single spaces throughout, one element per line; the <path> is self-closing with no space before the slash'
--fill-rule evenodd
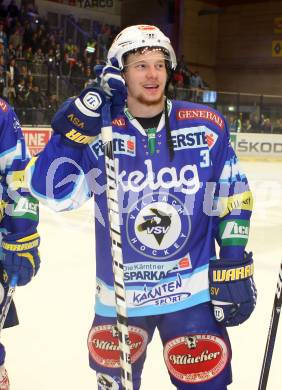
<path id="1" fill-rule="evenodd" d="M 278 277 L 277 288 L 276 288 L 274 302 L 273 302 L 271 320 L 270 320 L 268 336 L 267 336 L 267 341 L 265 346 L 258 390 L 265 390 L 267 386 L 267 380 L 268 380 L 268 375 L 269 375 L 269 370 L 271 365 L 273 349 L 275 345 L 280 311 L 281 311 L 281 304 L 282 304 L 281 291 L 282 291 L 282 262 L 280 264 L 279 277 Z"/>

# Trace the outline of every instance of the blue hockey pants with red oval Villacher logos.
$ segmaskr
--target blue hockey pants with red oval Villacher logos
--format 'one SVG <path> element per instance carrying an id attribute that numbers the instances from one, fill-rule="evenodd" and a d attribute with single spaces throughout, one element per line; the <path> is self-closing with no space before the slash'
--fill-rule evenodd
<path id="1" fill-rule="evenodd" d="M 89 363 L 99 390 L 122 389 L 115 325 L 115 318 L 96 315 L 89 332 Z M 147 346 L 156 328 L 170 380 L 178 390 L 227 389 L 232 382 L 229 337 L 207 302 L 174 313 L 129 318 L 134 390 L 140 389 Z M 160 388 L 153 381 L 151 389 Z"/>

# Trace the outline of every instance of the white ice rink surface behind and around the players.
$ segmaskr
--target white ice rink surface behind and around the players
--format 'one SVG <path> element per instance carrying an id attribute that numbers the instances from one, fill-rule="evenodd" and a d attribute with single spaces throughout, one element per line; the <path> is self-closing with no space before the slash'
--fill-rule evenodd
<path id="1" fill-rule="evenodd" d="M 255 390 L 282 259 L 282 163 L 242 162 L 255 197 L 248 250 L 254 252 L 258 303 L 251 318 L 230 328 L 233 384 Z M 95 291 L 93 203 L 55 214 L 41 207 L 42 266 L 37 277 L 16 290 L 20 326 L 2 332 L 11 390 L 97 390 L 88 368 L 87 334 Z M 280 390 L 282 319 L 268 390 Z M 155 334 L 148 348 L 142 390 L 173 389 Z"/>

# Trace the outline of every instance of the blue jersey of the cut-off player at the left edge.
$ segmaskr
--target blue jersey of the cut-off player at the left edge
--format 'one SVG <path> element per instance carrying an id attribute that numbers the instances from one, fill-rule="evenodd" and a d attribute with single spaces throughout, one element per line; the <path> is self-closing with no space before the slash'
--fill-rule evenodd
<path id="1" fill-rule="evenodd" d="M 0 99 L 0 247 L 3 235 L 21 238 L 38 225 L 38 201 L 22 189 L 29 159 L 19 120 Z"/>

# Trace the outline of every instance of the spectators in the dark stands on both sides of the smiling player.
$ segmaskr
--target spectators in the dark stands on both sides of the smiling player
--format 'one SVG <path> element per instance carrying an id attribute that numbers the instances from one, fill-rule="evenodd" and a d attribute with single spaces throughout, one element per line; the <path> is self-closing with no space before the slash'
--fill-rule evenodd
<path id="1" fill-rule="evenodd" d="M 68 23 L 69 30 L 83 32 L 73 16 L 68 15 Z M 50 26 L 34 5 L 19 8 L 11 0 L 4 6 L 0 0 L 0 97 L 15 108 L 23 124 L 49 124 L 65 98 L 94 81 L 94 66 L 105 61 L 117 33 L 116 26 L 93 22 L 88 35 L 73 39 L 63 28 Z M 179 58 L 170 97 L 212 103 L 203 98 L 208 90 L 199 72 Z M 227 120 L 234 132 L 282 132 L 282 118 L 274 122 L 253 113 L 230 114 Z"/>

